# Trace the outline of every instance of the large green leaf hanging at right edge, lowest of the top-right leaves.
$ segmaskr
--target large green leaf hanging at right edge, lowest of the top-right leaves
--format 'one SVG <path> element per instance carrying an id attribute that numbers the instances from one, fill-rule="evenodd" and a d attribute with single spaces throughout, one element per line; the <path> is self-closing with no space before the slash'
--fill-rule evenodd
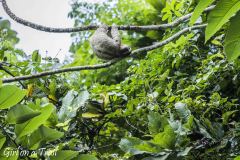
<path id="1" fill-rule="evenodd" d="M 230 22 L 224 42 L 224 51 L 228 60 L 234 60 L 240 55 L 240 12 Z"/>

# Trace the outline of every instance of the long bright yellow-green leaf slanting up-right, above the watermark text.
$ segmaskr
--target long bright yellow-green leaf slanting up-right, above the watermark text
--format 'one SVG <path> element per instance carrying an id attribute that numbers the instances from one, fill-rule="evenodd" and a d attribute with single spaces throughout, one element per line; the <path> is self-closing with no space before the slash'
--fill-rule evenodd
<path id="1" fill-rule="evenodd" d="M 15 133 L 17 137 L 21 138 L 22 136 L 25 136 L 35 131 L 39 126 L 46 122 L 46 120 L 50 117 L 52 111 L 53 105 L 48 104 L 44 108 L 41 108 L 41 114 L 39 116 L 34 117 L 26 121 L 25 123 L 16 124 Z"/>

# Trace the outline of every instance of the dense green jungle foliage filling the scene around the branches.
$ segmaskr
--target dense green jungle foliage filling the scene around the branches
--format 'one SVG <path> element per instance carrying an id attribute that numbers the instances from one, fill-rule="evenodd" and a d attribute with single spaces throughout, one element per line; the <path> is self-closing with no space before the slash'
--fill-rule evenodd
<path id="1" fill-rule="evenodd" d="M 109 68 L 0 83 L 0 159 L 240 159 L 239 9 L 239 0 L 74 1 L 75 26 L 162 24 L 194 11 L 171 29 L 123 31 L 132 49 L 209 24 Z M 74 61 L 63 64 L 16 49 L 8 21 L 0 31 L 0 67 L 12 76 L 101 62 L 90 31 L 72 34 Z"/>

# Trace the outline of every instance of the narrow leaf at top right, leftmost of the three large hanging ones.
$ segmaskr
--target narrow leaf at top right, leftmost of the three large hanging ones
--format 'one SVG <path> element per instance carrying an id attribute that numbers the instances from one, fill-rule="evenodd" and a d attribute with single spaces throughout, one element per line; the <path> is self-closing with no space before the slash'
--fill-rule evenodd
<path id="1" fill-rule="evenodd" d="M 198 5 L 196 6 L 196 8 L 194 9 L 193 15 L 190 19 L 189 24 L 193 25 L 196 20 L 198 19 L 198 17 L 202 14 L 202 12 L 204 11 L 204 9 L 206 7 L 208 7 L 210 4 L 212 4 L 215 0 L 200 0 L 200 2 L 198 3 Z"/>

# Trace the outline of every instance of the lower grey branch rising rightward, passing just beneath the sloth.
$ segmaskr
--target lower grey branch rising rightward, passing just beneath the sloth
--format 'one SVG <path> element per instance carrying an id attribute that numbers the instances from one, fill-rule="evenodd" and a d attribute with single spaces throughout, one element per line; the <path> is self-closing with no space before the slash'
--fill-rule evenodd
<path id="1" fill-rule="evenodd" d="M 136 50 L 132 51 L 131 55 L 141 53 L 141 52 L 151 51 L 151 50 L 154 50 L 156 48 L 162 47 L 162 46 L 168 44 L 169 42 L 175 40 L 176 38 L 178 38 L 179 36 L 183 35 L 186 32 L 189 32 L 189 31 L 195 30 L 195 29 L 204 28 L 204 27 L 206 27 L 206 24 L 195 25 L 195 26 L 192 26 L 192 27 L 184 28 L 183 30 L 175 33 L 171 37 L 169 37 L 169 38 L 167 38 L 167 39 L 165 39 L 165 40 L 163 40 L 159 43 L 156 43 L 156 44 L 151 45 L 151 46 L 139 48 L 139 49 L 136 49 Z M 124 58 L 126 58 L 126 57 L 124 57 Z M 41 73 L 37 73 L 37 74 L 33 74 L 33 75 L 12 77 L 12 78 L 3 79 L 2 81 L 3 81 L 3 83 L 10 83 L 10 82 L 15 82 L 15 81 L 20 81 L 20 80 L 29 80 L 29 79 L 35 79 L 35 78 L 40 78 L 40 77 L 49 76 L 49 75 L 55 75 L 55 74 L 64 73 L 64 72 L 74 72 L 74 71 L 81 71 L 81 70 L 95 70 L 95 69 L 100 69 L 100 68 L 107 68 L 107 67 L 113 65 L 114 63 L 124 59 L 124 58 L 113 59 L 109 62 L 102 63 L 102 64 L 96 64 L 96 65 L 90 65 L 90 66 L 77 66 L 77 67 L 70 67 L 70 68 L 63 68 L 63 69 L 55 69 L 55 70 L 41 72 Z"/>

